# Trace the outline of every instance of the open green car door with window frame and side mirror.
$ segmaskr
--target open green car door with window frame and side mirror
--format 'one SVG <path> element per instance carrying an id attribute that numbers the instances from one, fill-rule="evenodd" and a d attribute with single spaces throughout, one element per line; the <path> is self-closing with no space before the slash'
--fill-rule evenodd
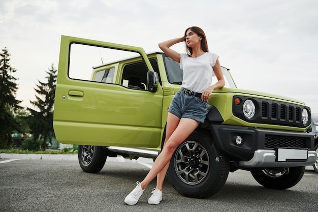
<path id="1" fill-rule="evenodd" d="M 152 70 L 142 48 L 62 36 L 56 139 L 79 145 L 160 146 L 163 90 Z M 143 79 L 142 89 L 129 85 L 134 77 Z"/>

